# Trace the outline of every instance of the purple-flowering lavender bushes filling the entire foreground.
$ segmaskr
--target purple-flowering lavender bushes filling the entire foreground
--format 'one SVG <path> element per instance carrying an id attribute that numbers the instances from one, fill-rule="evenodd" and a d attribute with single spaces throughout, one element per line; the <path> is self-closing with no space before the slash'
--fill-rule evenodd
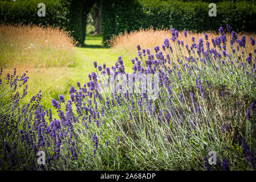
<path id="1" fill-rule="evenodd" d="M 256 50 L 247 52 L 245 36 L 238 39 L 234 31 L 227 43 L 222 27 L 220 36 L 208 40 L 205 34 L 192 45 L 173 28 L 170 35 L 162 51 L 138 45 L 138 57 L 131 60 L 133 73 L 158 76 L 156 100 L 148 92 L 99 92 L 100 75 L 110 80 L 111 72 L 123 73 L 128 80 L 121 56 L 111 68 L 95 62 L 90 81 L 71 86 L 69 100 L 52 100 L 58 119 L 39 106 L 40 92 L 19 106 L 27 87 L 22 96 L 16 89 L 26 74 L 7 76 L 1 84 L 0 168 L 255 169 Z M 39 150 L 46 152 L 46 165 L 36 163 Z M 214 165 L 209 151 L 217 154 Z"/>

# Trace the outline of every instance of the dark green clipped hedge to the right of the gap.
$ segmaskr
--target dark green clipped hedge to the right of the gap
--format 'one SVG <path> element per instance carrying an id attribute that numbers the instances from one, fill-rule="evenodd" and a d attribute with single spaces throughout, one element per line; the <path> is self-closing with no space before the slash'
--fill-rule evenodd
<path id="1" fill-rule="evenodd" d="M 113 34 L 148 28 L 218 31 L 230 24 L 233 30 L 255 32 L 256 3 L 254 1 L 214 1 L 217 16 L 210 17 L 206 1 L 161 0 L 101 0 L 103 42 Z"/>

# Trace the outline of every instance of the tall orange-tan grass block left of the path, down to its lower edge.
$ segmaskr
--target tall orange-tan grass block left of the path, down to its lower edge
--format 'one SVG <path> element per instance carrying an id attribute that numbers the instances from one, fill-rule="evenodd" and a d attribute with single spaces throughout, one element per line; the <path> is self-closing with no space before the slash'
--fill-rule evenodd
<path id="1" fill-rule="evenodd" d="M 46 68 L 73 64 L 76 42 L 58 27 L 0 25 L 0 66 Z"/>

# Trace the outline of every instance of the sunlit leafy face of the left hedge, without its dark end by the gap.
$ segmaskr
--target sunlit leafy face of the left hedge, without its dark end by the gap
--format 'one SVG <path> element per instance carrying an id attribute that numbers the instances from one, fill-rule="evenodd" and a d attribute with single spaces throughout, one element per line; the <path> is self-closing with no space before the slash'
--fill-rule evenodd
<path id="1" fill-rule="evenodd" d="M 67 16 L 70 13 L 67 8 L 68 2 L 62 0 L 43 2 L 46 5 L 46 16 L 39 17 L 37 6 L 41 2 L 40 0 L 0 1 L 0 22 L 50 24 L 65 27 L 68 23 Z"/>

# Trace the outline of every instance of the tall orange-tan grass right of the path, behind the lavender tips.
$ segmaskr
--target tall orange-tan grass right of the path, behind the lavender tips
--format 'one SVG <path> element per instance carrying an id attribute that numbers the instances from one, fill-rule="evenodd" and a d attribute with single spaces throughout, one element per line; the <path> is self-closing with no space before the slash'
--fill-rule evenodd
<path id="1" fill-rule="evenodd" d="M 180 41 L 183 40 L 184 47 L 186 44 L 191 45 L 192 37 L 195 38 L 195 41 L 197 42 L 198 39 L 203 38 L 205 33 L 208 34 L 209 42 L 212 38 L 215 38 L 218 34 L 217 32 L 191 32 L 188 31 L 188 36 L 185 38 L 185 36 L 182 34 L 182 32 L 179 32 L 179 39 Z M 250 36 L 254 39 L 256 39 L 256 34 L 250 34 L 247 32 L 239 32 L 238 38 L 241 38 L 242 35 L 246 36 L 246 42 L 250 42 Z M 231 34 L 227 33 L 227 42 L 230 42 Z M 162 50 L 161 46 L 163 44 L 163 40 L 165 38 L 170 38 L 170 30 L 167 28 L 156 28 L 154 30 L 153 27 L 146 28 L 146 29 L 140 29 L 137 31 L 120 33 L 119 35 L 114 35 L 107 43 L 108 45 L 113 48 L 113 51 L 115 52 L 122 52 L 122 55 L 125 55 L 129 58 L 131 58 L 131 55 L 136 56 L 137 48 L 136 46 L 139 44 L 141 48 L 147 48 L 147 49 L 153 49 L 155 46 L 159 46 Z M 204 45 L 204 48 L 206 49 L 206 46 Z M 246 49 L 248 52 L 253 52 L 253 47 L 246 45 Z M 185 53 L 185 52 L 184 52 Z M 173 52 L 174 57 L 177 57 L 177 52 Z"/>

